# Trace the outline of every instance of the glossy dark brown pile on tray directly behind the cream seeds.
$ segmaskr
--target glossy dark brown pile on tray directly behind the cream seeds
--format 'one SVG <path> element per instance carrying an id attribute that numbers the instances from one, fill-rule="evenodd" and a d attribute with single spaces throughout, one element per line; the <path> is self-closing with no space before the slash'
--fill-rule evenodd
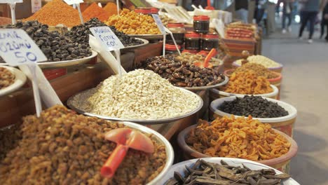
<path id="1" fill-rule="evenodd" d="M 142 62 L 142 68 L 149 69 L 178 87 L 201 87 L 224 81 L 224 76 L 215 68 L 200 68 L 191 60 L 182 60 L 176 55 L 151 57 Z"/>

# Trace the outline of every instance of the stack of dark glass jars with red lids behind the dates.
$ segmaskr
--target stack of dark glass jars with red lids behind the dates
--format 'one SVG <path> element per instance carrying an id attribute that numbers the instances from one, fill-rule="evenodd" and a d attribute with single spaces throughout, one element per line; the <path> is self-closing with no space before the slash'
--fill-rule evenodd
<path id="1" fill-rule="evenodd" d="M 207 15 L 193 17 L 193 32 L 186 32 L 184 24 L 179 22 L 168 23 L 168 29 L 172 32 L 178 48 L 182 52 L 200 53 L 207 55 L 212 48 L 219 48 L 219 35 L 210 32 L 210 18 Z M 177 48 L 170 35 L 166 36 L 166 53 L 177 53 Z"/>

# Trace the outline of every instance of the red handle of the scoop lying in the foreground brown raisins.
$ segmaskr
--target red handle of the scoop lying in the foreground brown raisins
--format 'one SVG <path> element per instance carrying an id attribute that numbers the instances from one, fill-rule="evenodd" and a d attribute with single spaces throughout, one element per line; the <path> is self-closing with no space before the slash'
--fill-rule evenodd
<path id="1" fill-rule="evenodd" d="M 128 146 L 117 144 L 111 156 L 106 160 L 106 163 L 102 165 L 100 173 L 102 177 L 111 178 L 114 176 L 118 166 L 121 164 L 123 158 L 128 153 Z"/>

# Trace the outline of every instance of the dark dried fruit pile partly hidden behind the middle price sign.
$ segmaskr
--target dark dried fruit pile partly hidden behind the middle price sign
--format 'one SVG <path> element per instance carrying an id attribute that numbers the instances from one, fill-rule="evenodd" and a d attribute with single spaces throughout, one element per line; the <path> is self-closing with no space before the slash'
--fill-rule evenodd
<path id="1" fill-rule="evenodd" d="M 92 18 L 88 22 L 85 22 L 84 25 L 78 25 L 71 28 L 71 31 L 67 32 L 66 36 L 68 36 L 72 41 L 76 43 L 89 44 L 89 34 L 90 27 L 106 27 L 103 22 L 100 22 L 97 18 Z M 130 37 L 123 32 L 118 32 L 115 27 L 110 27 L 111 31 L 116 34 L 118 39 L 123 43 L 124 46 L 134 46 L 138 44 L 142 44 L 142 41 L 137 40 L 133 37 Z"/>

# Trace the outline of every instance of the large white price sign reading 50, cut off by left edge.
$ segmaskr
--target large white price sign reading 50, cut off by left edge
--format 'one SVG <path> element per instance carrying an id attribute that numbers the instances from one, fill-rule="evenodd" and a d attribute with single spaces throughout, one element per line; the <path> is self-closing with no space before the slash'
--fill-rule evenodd
<path id="1" fill-rule="evenodd" d="M 47 60 L 36 43 L 22 29 L 0 29 L 0 56 L 11 66 Z"/>

